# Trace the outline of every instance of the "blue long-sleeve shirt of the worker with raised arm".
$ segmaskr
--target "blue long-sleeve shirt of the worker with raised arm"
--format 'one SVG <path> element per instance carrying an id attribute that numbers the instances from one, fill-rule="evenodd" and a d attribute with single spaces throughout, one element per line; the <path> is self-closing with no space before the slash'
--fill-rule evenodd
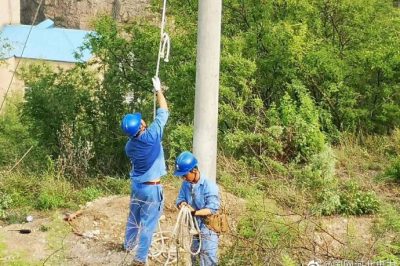
<path id="1" fill-rule="evenodd" d="M 138 137 L 130 138 L 125 152 L 132 163 L 130 177 L 135 183 L 158 179 L 167 174 L 162 137 L 168 120 L 168 110 L 157 109 L 153 123 Z"/>

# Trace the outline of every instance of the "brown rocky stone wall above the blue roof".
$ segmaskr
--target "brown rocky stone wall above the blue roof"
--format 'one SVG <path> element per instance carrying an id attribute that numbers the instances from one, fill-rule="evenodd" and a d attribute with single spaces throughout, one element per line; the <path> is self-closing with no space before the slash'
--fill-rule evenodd
<path id="1" fill-rule="evenodd" d="M 52 19 L 57 27 L 90 29 L 90 21 L 107 14 L 119 22 L 145 16 L 150 0 L 43 0 L 37 22 Z M 21 23 L 31 24 L 40 0 L 21 0 Z"/>

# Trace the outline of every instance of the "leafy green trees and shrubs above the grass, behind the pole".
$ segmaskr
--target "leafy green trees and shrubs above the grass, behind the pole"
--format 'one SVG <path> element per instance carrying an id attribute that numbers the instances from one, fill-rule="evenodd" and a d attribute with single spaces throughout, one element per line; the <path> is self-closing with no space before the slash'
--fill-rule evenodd
<path id="1" fill-rule="evenodd" d="M 174 130 L 193 121 L 197 4 L 169 5 L 173 56 L 161 79 Z M 253 164 L 259 157 L 267 164 L 307 162 L 338 130 L 385 133 L 399 124 L 400 23 L 390 1 L 230 0 L 223 15 L 221 149 Z M 24 114 L 52 155 L 59 155 L 66 124 L 93 144 L 96 169 L 116 172 L 126 162 L 121 117 L 136 110 L 152 117 L 159 30 L 149 22 L 119 26 L 108 17 L 94 27 L 89 65 L 25 72 Z M 55 115 L 46 117 L 50 111 Z M 181 137 L 168 137 L 172 156 Z"/>

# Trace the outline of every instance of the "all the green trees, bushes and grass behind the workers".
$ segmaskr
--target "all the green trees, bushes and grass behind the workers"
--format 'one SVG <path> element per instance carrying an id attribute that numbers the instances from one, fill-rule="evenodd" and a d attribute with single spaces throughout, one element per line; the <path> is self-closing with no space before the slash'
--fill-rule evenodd
<path id="1" fill-rule="evenodd" d="M 169 5 L 173 58 L 160 75 L 172 163 L 191 149 L 197 1 Z M 18 220 L 10 209 L 129 192 L 119 123 L 133 111 L 152 118 L 159 29 L 105 16 L 93 27 L 91 62 L 20 72 L 24 101 L 8 101 L 0 118 L 3 220 Z M 340 258 L 398 259 L 400 206 L 388 187 L 400 181 L 399 31 L 392 1 L 224 1 L 218 181 L 248 201 L 248 215 L 223 264 L 303 263 L 310 247 L 325 251 L 309 234 L 334 215 L 376 220 L 379 245 L 367 254 L 348 244 L 346 253 L 339 243 Z"/>

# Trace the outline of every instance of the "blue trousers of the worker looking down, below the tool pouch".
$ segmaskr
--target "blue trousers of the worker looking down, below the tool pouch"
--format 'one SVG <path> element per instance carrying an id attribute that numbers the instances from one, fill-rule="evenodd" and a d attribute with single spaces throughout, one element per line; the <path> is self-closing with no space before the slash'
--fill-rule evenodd
<path id="1" fill-rule="evenodd" d="M 204 223 L 199 223 L 201 234 L 200 266 L 215 266 L 218 264 L 218 235 L 208 229 Z M 193 239 L 192 251 L 199 248 L 199 239 Z M 197 256 L 192 256 L 192 265 L 198 265 Z"/>

